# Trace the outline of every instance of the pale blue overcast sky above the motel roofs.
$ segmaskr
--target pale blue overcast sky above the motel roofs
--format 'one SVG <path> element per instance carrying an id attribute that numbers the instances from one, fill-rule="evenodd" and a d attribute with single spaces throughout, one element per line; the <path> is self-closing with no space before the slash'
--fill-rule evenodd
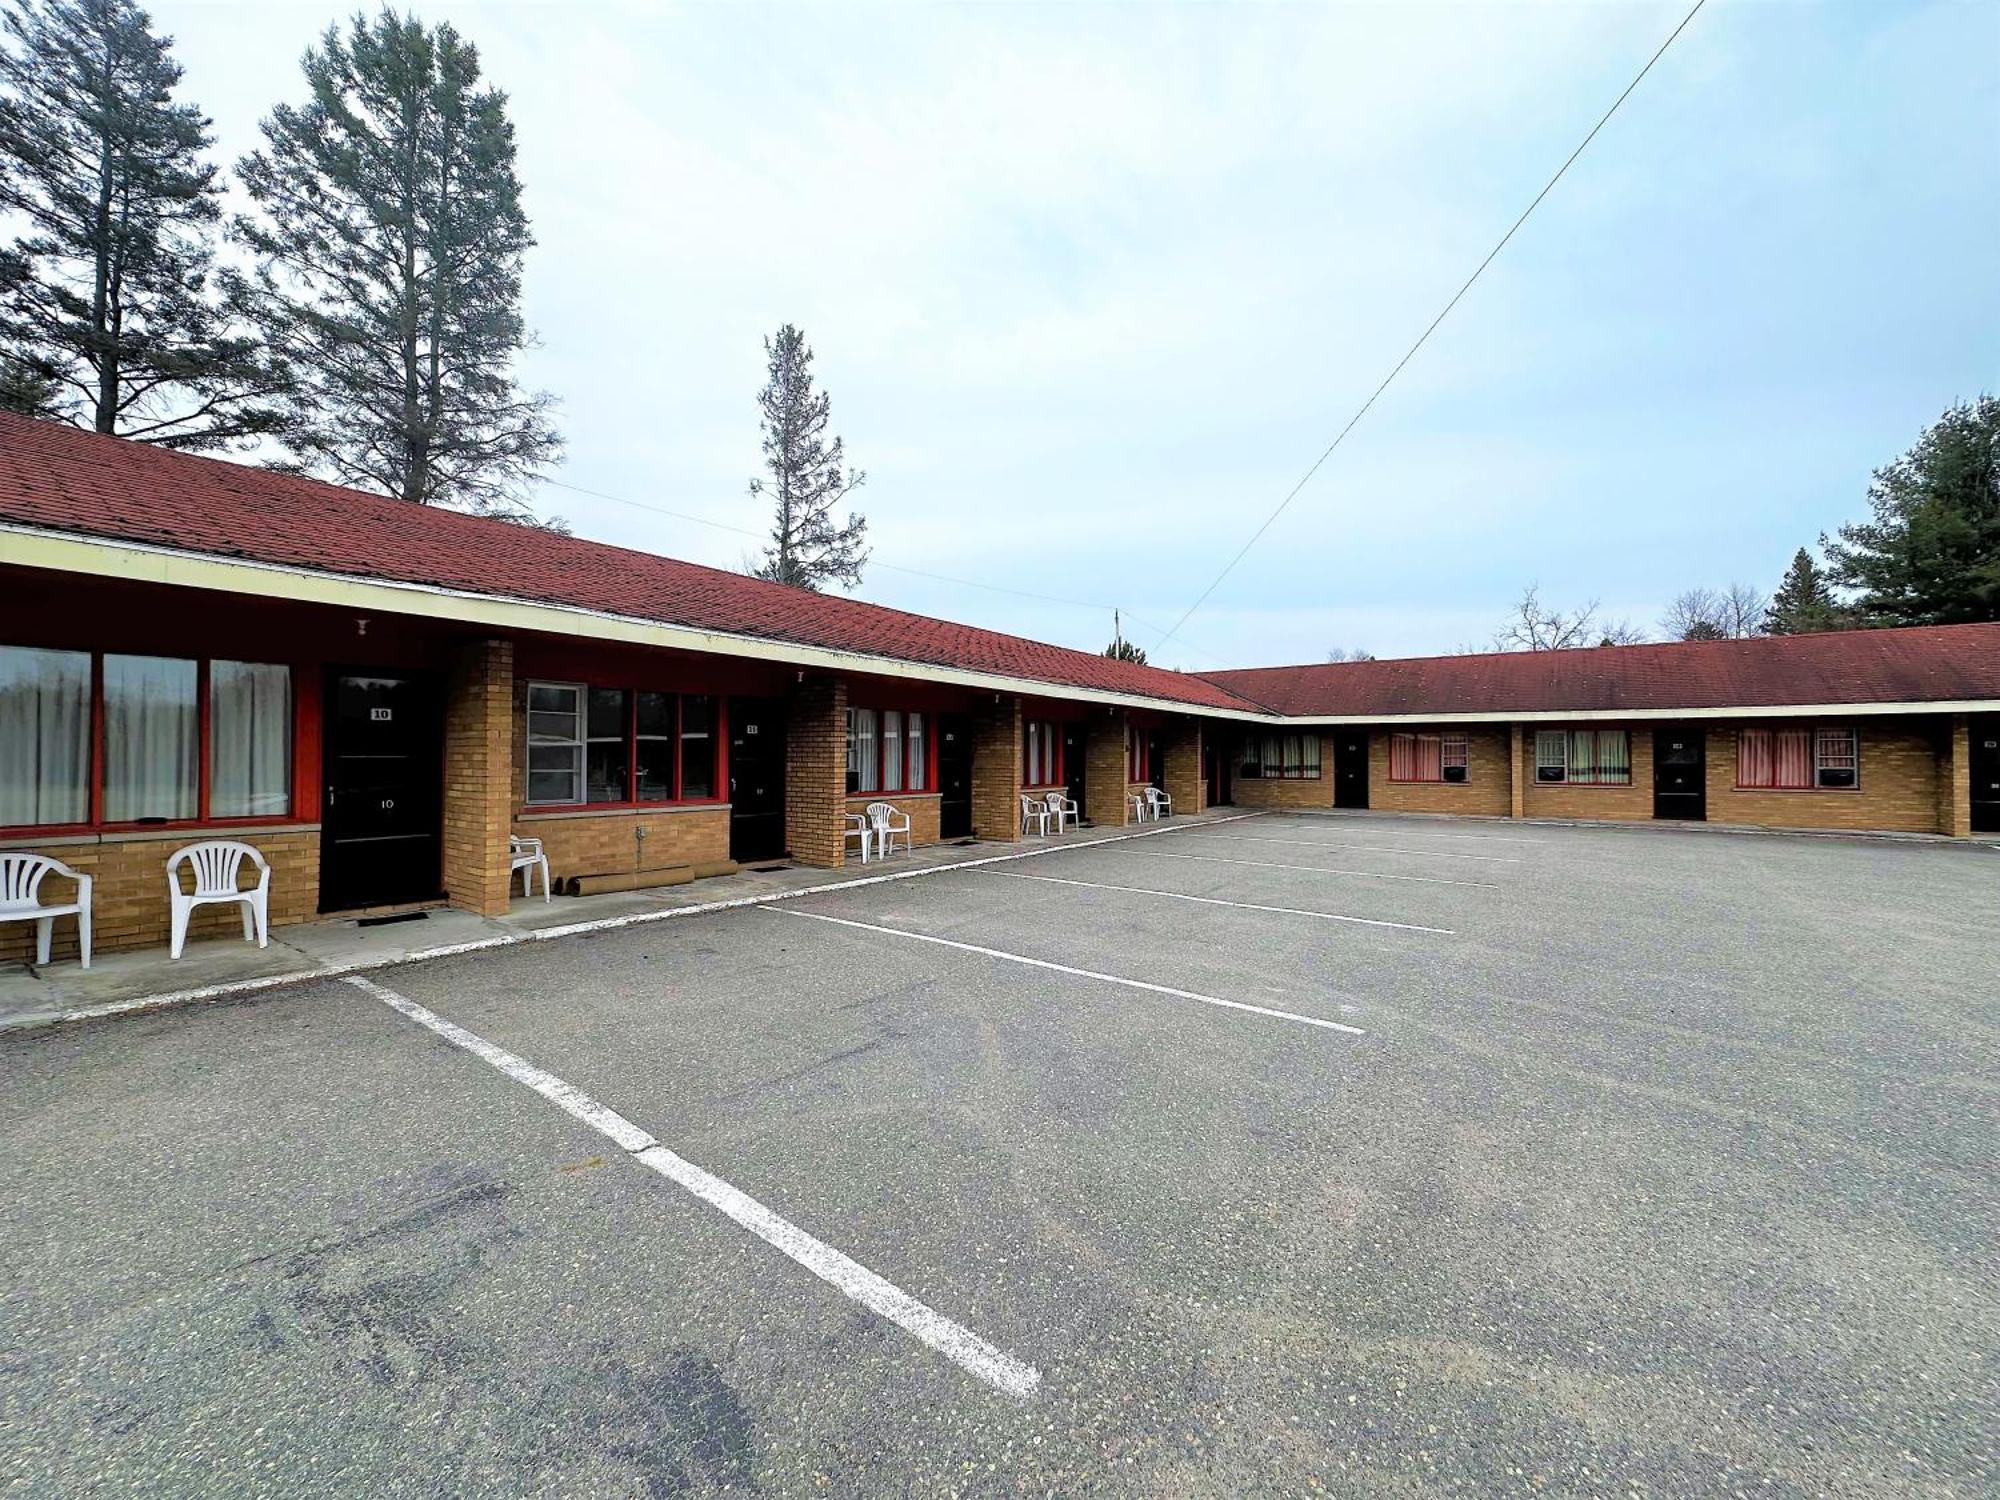
<path id="1" fill-rule="evenodd" d="M 1110 606 L 1158 640 L 1684 10 L 418 6 L 512 98 L 562 480 L 758 530 L 790 320 L 882 564 L 1088 608 L 860 596 L 1092 650 Z M 152 12 L 234 160 L 338 8 Z M 1530 580 L 1646 628 L 1768 588 L 2000 386 L 1996 56 L 1994 4 L 1712 0 L 1156 660 L 1452 650 Z"/>

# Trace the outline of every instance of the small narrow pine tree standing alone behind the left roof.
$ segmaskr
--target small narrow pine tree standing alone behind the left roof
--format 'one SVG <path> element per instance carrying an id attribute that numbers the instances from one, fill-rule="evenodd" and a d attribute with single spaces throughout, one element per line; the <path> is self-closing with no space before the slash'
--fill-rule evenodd
<path id="1" fill-rule="evenodd" d="M 830 402 L 812 388 L 812 350 L 792 324 L 764 340 L 770 380 L 758 392 L 764 410 L 764 468 L 750 480 L 750 494 L 774 506 L 770 546 L 750 572 L 794 588 L 828 582 L 854 588 L 862 580 L 868 520 L 848 512 L 834 522 L 834 506 L 866 484 L 868 476 L 846 466 L 840 438 L 826 440 Z"/>

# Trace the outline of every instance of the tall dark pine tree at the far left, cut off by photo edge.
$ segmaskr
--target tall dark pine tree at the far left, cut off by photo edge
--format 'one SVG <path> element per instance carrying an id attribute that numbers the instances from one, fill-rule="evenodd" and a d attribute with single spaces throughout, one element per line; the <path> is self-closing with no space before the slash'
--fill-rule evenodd
<path id="1" fill-rule="evenodd" d="M 16 0 L 0 44 L 8 402 L 168 448 L 268 432 L 276 374 L 208 296 L 216 168 L 132 0 Z M 32 392 L 32 394 L 30 394 Z"/>

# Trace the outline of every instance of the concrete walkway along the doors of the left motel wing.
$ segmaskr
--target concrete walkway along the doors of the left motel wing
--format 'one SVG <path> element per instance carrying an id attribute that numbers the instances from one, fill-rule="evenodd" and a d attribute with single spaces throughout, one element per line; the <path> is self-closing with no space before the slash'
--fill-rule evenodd
<path id="1" fill-rule="evenodd" d="M 666 920 L 682 914 L 786 900 L 810 890 L 854 880 L 906 878 L 962 864 L 1072 848 L 1106 838 L 1142 838 L 1204 822 L 1244 816 L 1238 808 L 1172 818 L 1164 824 L 1132 828 L 1076 828 L 1050 838 L 1020 842 L 928 844 L 866 868 L 850 862 L 844 870 L 786 864 L 778 870 L 742 870 L 714 880 L 656 890 L 622 890 L 604 896 L 558 896 L 552 902 L 516 896 L 506 916 L 486 918 L 456 908 L 434 908 L 412 920 L 362 926 L 354 918 L 300 922 L 276 928 L 268 948 L 240 940 L 210 938 L 190 942 L 174 960 L 166 948 L 140 948 L 94 956 L 90 968 L 74 958 L 40 968 L 0 966 L 0 1032 L 48 1026 L 64 1020 L 92 1020 L 160 1006 L 218 1000 L 232 994 L 296 984 L 310 978 L 354 974 L 424 958 L 446 958 L 514 942 L 536 942 L 608 926 Z"/>

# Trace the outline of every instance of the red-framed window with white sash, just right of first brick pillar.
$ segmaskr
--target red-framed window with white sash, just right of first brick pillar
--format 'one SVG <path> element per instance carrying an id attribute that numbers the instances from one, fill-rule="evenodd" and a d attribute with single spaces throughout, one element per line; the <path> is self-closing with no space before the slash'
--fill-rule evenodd
<path id="1" fill-rule="evenodd" d="M 528 684 L 528 802 L 700 802 L 716 794 L 716 700 Z"/>

